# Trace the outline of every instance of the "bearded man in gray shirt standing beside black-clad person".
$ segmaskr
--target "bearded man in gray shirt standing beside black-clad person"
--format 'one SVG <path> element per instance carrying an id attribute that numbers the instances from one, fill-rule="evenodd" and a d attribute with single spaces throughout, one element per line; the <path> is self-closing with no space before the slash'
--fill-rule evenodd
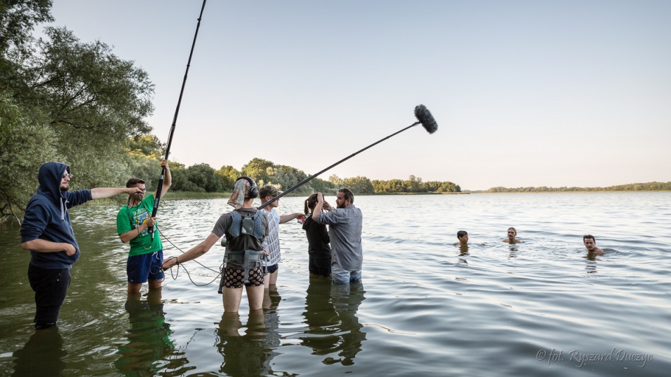
<path id="1" fill-rule="evenodd" d="M 354 194 L 349 189 L 338 190 L 335 204 L 338 208 L 333 209 L 324 202 L 324 195 L 321 192 L 317 193 L 317 206 L 312 212 L 312 220 L 329 225 L 333 283 L 356 283 L 361 281 L 363 262 L 361 248 L 363 215 L 361 210 L 354 206 Z M 322 206 L 330 212 L 322 212 Z"/>

